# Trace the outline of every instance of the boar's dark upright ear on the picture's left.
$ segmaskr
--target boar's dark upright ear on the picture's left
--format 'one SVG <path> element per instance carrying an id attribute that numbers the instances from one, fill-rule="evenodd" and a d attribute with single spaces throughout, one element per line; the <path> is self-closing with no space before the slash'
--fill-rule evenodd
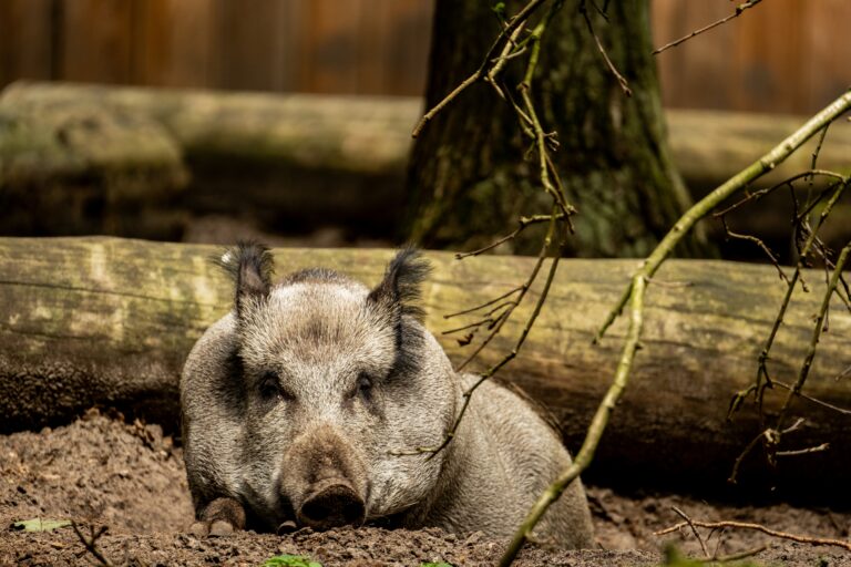
<path id="1" fill-rule="evenodd" d="M 244 315 L 246 301 L 268 297 L 274 266 L 266 246 L 252 240 L 239 241 L 222 255 L 218 264 L 234 278 L 237 317 Z"/>

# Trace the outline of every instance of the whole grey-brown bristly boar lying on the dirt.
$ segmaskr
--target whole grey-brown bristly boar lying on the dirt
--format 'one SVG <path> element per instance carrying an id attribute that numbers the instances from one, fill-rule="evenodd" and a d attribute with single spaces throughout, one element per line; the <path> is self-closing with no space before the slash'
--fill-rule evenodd
<path id="1" fill-rule="evenodd" d="M 325 268 L 273 285 L 257 243 L 221 264 L 234 310 L 198 340 L 181 380 L 193 530 L 369 522 L 507 537 L 570 464 L 535 410 L 490 381 L 452 442 L 421 450 L 445 439 L 478 377 L 455 372 L 422 326 L 419 251 L 399 251 L 371 290 Z M 534 536 L 593 545 L 581 483 Z"/>

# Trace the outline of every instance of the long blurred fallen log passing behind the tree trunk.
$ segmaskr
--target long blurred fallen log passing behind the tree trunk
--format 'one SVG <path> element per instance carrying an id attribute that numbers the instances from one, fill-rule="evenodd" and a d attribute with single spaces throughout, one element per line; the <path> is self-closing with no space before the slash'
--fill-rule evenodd
<path id="1" fill-rule="evenodd" d="M 250 215 L 267 227 L 290 229 L 344 224 L 357 226 L 363 234 L 379 226 L 385 233 L 375 236 L 383 237 L 392 234 L 403 206 L 410 134 L 421 106 L 417 97 L 29 82 L 14 83 L 0 96 L 0 110 L 42 116 L 48 122 L 42 127 L 48 130 L 55 128 L 55 116 L 73 109 L 98 109 L 103 115 L 117 117 L 103 118 L 112 122 L 158 125 L 192 172 L 183 202 L 189 210 Z M 675 163 L 696 196 L 738 173 L 804 121 L 801 116 L 677 109 L 668 110 L 666 116 Z M 10 135 L 0 125 L 0 162 L 4 138 Z M 96 142 L 96 136 L 92 141 Z M 757 186 L 773 185 L 809 168 L 817 142 L 810 141 Z M 124 148 L 125 155 L 135 151 L 130 138 L 112 141 L 109 147 L 113 153 Z M 851 174 L 850 154 L 851 125 L 837 123 L 830 128 L 818 165 Z M 38 167 L 27 171 L 39 175 Z M 817 177 L 813 186 L 822 182 Z M 808 190 L 806 184 L 801 187 Z M 785 193 L 780 197 L 734 215 L 734 228 L 742 226 L 737 219 L 747 220 L 770 244 L 783 245 L 792 205 Z M 835 215 L 845 215 L 844 207 L 838 207 Z M 844 218 L 832 223 L 829 241 L 841 246 L 848 239 L 849 226 Z"/>

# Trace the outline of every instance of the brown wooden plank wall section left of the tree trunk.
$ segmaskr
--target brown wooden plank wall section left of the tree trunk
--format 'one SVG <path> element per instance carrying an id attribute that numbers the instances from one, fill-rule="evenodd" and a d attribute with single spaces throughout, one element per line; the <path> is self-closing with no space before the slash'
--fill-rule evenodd
<path id="1" fill-rule="evenodd" d="M 431 11 L 431 0 L 0 0 L 0 86 L 420 94 Z"/>

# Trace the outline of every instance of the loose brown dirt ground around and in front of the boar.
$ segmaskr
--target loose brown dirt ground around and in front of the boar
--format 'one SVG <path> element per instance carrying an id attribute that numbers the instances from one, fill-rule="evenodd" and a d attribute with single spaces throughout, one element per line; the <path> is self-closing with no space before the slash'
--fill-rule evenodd
<path id="1" fill-rule="evenodd" d="M 112 565 L 260 565 L 279 554 L 304 555 L 324 566 L 493 565 L 504 542 L 482 534 L 465 537 L 440 529 L 385 530 L 377 527 L 300 530 L 286 536 L 242 533 L 198 539 L 186 534 L 192 506 L 180 449 L 158 426 L 126 424 L 90 412 L 63 427 L 0 436 L 0 566 L 96 565 L 71 527 L 31 533 L 19 520 L 74 519 L 107 530 L 95 548 Z M 588 489 L 598 549 L 553 551 L 527 548 L 520 566 L 657 565 L 670 543 L 701 556 L 690 533 L 665 537 L 654 530 L 676 524 L 679 507 L 694 519 L 756 522 L 771 528 L 848 540 L 851 513 L 786 505 L 732 507 L 676 495 L 618 495 Z M 706 530 L 704 530 L 706 535 Z M 748 530 L 726 530 L 707 542 L 709 554 L 769 547 L 759 565 L 851 566 L 851 551 L 781 542 Z M 101 565 L 103 565 L 101 563 Z"/>

